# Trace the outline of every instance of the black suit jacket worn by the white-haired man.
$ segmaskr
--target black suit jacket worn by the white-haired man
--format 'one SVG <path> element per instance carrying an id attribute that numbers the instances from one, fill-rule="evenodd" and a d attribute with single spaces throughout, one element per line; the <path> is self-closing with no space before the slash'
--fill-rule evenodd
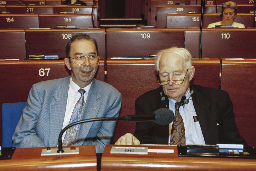
<path id="1" fill-rule="evenodd" d="M 239 135 L 235 124 L 235 114 L 230 97 L 226 91 L 199 85 L 190 85 L 195 112 L 197 114 L 205 144 L 243 144 L 246 141 Z M 159 108 L 169 108 L 160 99 L 162 87 L 148 91 L 135 101 L 137 115 L 152 114 Z M 191 118 L 193 119 L 193 118 Z M 168 144 L 169 125 L 154 122 L 137 122 L 134 136 L 141 144 Z"/>

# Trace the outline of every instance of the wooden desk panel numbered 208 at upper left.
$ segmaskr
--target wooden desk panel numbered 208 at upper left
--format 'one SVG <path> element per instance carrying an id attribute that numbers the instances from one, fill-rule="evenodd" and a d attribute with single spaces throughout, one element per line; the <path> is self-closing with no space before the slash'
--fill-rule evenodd
<path id="1" fill-rule="evenodd" d="M 53 13 L 60 14 L 61 12 L 71 12 L 74 14 L 91 14 L 92 6 L 79 6 L 79 5 L 55 5 L 53 6 Z M 98 27 L 98 12 L 97 6 L 93 7 L 93 14 L 95 15 L 95 27 Z"/>

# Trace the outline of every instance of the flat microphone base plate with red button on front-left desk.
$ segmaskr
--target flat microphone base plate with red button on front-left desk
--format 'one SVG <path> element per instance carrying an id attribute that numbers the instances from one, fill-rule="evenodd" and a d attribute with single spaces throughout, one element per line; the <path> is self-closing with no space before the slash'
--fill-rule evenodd
<path id="1" fill-rule="evenodd" d="M 79 147 L 70 146 L 63 148 L 63 150 L 64 151 L 62 153 L 58 153 L 58 148 L 51 148 L 49 150 L 43 149 L 41 156 L 79 154 Z"/>

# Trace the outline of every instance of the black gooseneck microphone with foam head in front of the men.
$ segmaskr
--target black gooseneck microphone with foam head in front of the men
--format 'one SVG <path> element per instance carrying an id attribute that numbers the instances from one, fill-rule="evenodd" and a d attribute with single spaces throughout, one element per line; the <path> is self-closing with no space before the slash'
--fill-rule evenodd
<path id="1" fill-rule="evenodd" d="M 171 123 L 174 119 L 174 113 L 167 108 L 160 108 L 156 110 L 153 114 L 151 115 L 127 115 L 124 117 L 114 117 L 114 118 L 91 118 L 91 119 L 85 119 L 85 120 L 80 120 L 77 122 L 73 122 L 69 125 L 67 125 L 65 128 L 63 128 L 59 134 L 58 138 L 58 151 L 57 153 L 63 153 L 64 150 L 62 149 L 62 140 L 61 137 L 63 133 L 70 127 L 77 125 L 77 124 L 82 124 L 85 122 L 92 122 L 92 121 L 137 121 L 137 122 L 143 122 L 143 121 L 154 121 L 156 124 L 159 125 L 167 125 Z"/>

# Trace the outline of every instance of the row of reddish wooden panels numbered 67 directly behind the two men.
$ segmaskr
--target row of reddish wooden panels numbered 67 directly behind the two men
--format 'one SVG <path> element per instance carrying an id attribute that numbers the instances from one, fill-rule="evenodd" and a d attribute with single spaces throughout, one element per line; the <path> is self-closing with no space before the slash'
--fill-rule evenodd
<path id="1" fill-rule="evenodd" d="M 195 75 L 191 83 L 226 90 L 233 102 L 241 135 L 249 146 L 255 146 L 256 131 L 251 128 L 256 121 L 251 118 L 256 110 L 253 101 L 256 98 L 253 93 L 256 79 L 254 74 L 247 75 L 256 72 L 256 60 L 197 58 L 192 61 Z M 123 74 L 124 71 L 127 72 Z M 4 80 L 0 85 L 0 106 L 2 103 L 26 102 L 34 83 L 70 75 L 63 60 L 0 61 L 0 72 L 0 80 Z M 120 116 L 135 114 L 135 99 L 160 86 L 152 59 L 107 58 L 106 62 L 100 59 L 96 79 L 113 85 L 122 94 Z M 134 129 L 135 123 L 118 122 L 113 142 L 126 132 L 133 133 Z"/>

